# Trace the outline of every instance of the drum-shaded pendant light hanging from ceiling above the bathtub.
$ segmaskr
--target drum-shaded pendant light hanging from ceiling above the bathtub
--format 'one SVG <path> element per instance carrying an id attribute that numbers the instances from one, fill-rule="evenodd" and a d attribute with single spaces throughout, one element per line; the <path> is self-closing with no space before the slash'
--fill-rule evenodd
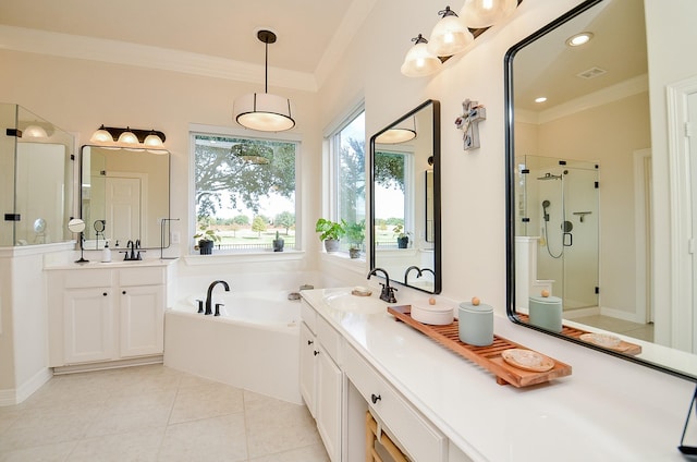
<path id="1" fill-rule="evenodd" d="M 236 98 L 233 102 L 233 119 L 240 125 L 260 132 L 282 132 L 295 126 L 291 100 L 271 95 L 269 89 L 269 44 L 276 42 L 271 31 L 259 31 L 257 38 L 266 45 L 264 93 L 253 93 Z"/>

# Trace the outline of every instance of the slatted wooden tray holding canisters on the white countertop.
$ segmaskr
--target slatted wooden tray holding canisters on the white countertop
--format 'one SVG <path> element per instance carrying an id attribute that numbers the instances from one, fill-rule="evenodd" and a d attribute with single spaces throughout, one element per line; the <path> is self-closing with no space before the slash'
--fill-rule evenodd
<path id="1" fill-rule="evenodd" d="M 463 343 L 460 341 L 460 327 L 457 325 L 457 319 L 455 319 L 453 324 L 449 324 L 447 326 L 430 326 L 412 318 L 411 305 L 389 306 L 388 312 L 394 315 L 398 320 L 412 326 L 452 352 L 457 353 L 458 355 L 489 370 L 496 375 L 497 384 L 499 385 L 511 384 L 514 387 L 522 388 L 571 375 L 571 366 L 568 364 L 564 364 L 553 358 L 550 360 L 554 361 L 554 367 L 542 373 L 524 370 L 510 365 L 503 361 L 501 353 L 509 349 L 525 349 L 525 346 L 504 339 L 503 337 L 494 335 L 493 343 L 488 346 L 474 346 Z"/>

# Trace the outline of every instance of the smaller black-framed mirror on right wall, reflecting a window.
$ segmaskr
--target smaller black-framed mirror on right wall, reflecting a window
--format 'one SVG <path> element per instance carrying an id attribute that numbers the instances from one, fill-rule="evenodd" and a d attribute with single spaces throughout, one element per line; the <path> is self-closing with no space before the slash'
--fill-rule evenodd
<path id="1" fill-rule="evenodd" d="M 370 267 L 441 291 L 440 102 L 427 100 L 370 138 Z"/>

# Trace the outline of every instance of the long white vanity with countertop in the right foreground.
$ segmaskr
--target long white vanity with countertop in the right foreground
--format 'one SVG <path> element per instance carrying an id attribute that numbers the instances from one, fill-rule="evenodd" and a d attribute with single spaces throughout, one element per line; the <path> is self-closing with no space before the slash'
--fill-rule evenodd
<path id="1" fill-rule="evenodd" d="M 375 293 L 302 294 L 301 391 L 333 462 L 366 460 L 367 410 L 418 462 L 682 460 L 675 447 L 687 382 L 498 317 L 498 335 L 573 366 L 549 384 L 502 386 L 396 321 Z M 400 304 L 407 299 L 401 293 Z M 637 418 L 647 410 L 643 397 L 659 389 L 667 400 L 684 394 L 684 410 L 676 400 L 652 401 Z"/>

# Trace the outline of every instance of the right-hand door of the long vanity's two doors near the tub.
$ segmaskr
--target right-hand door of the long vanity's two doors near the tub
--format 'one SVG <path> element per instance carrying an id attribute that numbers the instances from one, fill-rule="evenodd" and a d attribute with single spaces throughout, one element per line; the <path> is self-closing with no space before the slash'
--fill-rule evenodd
<path id="1" fill-rule="evenodd" d="M 341 454 L 342 373 L 322 345 L 317 355 L 317 430 L 329 458 L 338 462 Z"/>

